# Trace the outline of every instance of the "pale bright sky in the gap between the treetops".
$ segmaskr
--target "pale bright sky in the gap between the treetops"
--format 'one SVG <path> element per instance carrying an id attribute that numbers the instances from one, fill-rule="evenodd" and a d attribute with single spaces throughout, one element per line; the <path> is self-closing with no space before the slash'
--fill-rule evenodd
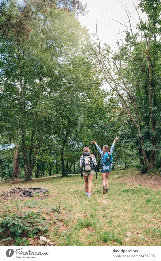
<path id="1" fill-rule="evenodd" d="M 125 10 L 120 6 L 119 0 L 81 0 L 81 2 L 87 3 L 86 10 L 89 10 L 88 14 L 84 16 L 79 16 L 79 21 L 82 25 L 86 26 L 90 33 L 96 32 L 96 20 L 97 22 L 97 31 L 98 36 L 102 40 L 102 42 L 108 43 L 112 49 L 113 45 L 116 46 L 117 33 L 125 28 L 123 26 L 119 26 L 117 22 L 109 20 L 108 15 L 125 24 L 128 22 L 128 17 L 125 13 Z M 135 6 L 138 5 L 138 0 L 124 0 L 121 1 L 132 14 L 131 21 L 134 26 L 138 22 L 138 14 L 135 10 Z M 143 16 L 145 18 L 145 15 Z M 128 24 L 127 24 L 128 25 Z M 134 27 L 133 27 L 134 29 Z M 135 29 L 134 29 L 135 30 Z M 125 35 L 125 33 L 120 34 Z"/>

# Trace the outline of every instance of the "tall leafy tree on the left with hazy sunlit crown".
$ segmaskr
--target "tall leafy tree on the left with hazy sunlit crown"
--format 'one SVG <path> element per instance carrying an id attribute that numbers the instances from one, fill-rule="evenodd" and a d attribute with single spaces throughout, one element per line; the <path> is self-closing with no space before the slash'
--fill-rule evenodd
<path id="1" fill-rule="evenodd" d="M 46 2 L 44 1 L 44 3 Z M 59 7 L 62 2 L 59 1 Z M 37 153 L 45 142 L 44 135 L 51 140 L 51 115 L 53 108 L 56 107 L 55 122 L 59 125 L 60 117 L 57 115 L 61 109 L 64 109 L 60 105 L 58 106 L 59 101 L 64 98 L 60 92 L 66 93 L 66 96 L 68 95 L 71 99 L 69 86 L 73 88 L 76 85 L 74 88 L 77 92 L 79 90 L 79 94 L 87 88 L 83 81 L 86 80 L 86 68 L 89 67 L 88 71 L 90 71 L 91 65 L 88 65 L 86 57 L 83 57 L 86 55 L 85 52 L 79 63 L 82 66 L 79 74 L 76 72 L 75 66 L 76 59 L 79 59 L 81 53 L 80 46 L 86 42 L 86 31 L 84 32 L 71 12 L 71 7 L 67 10 L 67 7 L 71 6 L 70 2 L 67 1 L 68 4 L 64 4 L 65 11 L 55 7 L 51 10 L 46 7 L 44 10 L 41 8 L 36 10 L 32 6 L 32 17 L 35 16 L 36 19 L 28 18 L 29 28 L 24 28 L 24 30 L 22 27 L 25 27 L 27 18 L 24 18 L 23 21 L 18 18 L 21 17 L 22 10 L 27 8 L 27 5 L 23 8 L 17 8 L 17 5 L 12 4 L 5 6 L 9 14 L 14 10 L 19 22 L 15 17 L 10 17 L 12 21 L 10 20 L 7 24 L 5 20 L 1 30 L 2 99 L 3 106 L 6 106 L 2 124 L 4 123 L 5 126 L 6 117 L 12 118 L 12 112 L 8 111 L 10 102 L 12 102 L 16 117 L 13 116 L 12 128 L 9 130 L 11 132 L 10 140 L 16 140 L 16 133 L 20 130 L 21 143 L 19 144 L 23 154 L 25 180 L 30 180 L 32 177 Z M 56 3 L 58 4 L 55 1 Z M 72 4 L 81 7 L 79 1 L 72 1 Z M 4 16 L 2 19 L 5 19 Z M 6 33 L 4 28 L 7 30 Z M 66 42 L 65 45 L 64 42 Z M 9 52 L 10 56 L 8 56 Z M 73 58 L 74 56 L 75 58 Z M 84 73 L 83 76 L 82 73 Z M 88 78 L 90 81 L 91 76 Z M 9 100 L 8 97 L 10 97 Z M 8 116 L 6 116 L 7 113 Z M 65 129 L 66 120 L 64 119 Z M 77 125 L 76 121 L 72 122 L 72 124 L 74 123 Z M 6 133 L 5 131 L 4 127 L 3 133 Z M 68 129 L 66 132 L 68 134 Z M 63 140 L 63 146 L 65 143 L 66 139 Z M 64 172 L 63 146 L 61 147 L 61 162 Z M 15 167 L 13 167 L 13 171 L 14 169 Z"/>

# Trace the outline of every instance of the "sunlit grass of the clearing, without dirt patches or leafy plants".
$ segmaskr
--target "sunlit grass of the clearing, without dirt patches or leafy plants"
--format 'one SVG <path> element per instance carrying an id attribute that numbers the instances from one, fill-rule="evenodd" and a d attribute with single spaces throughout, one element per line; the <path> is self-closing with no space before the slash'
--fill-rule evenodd
<path id="1" fill-rule="evenodd" d="M 129 171 L 124 170 L 123 175 L 129 175 Z M 137 171 L 130 172 L 135 175 Z M 111 173 L 109 192 L 103 196 L 102 178 L 98 173 L 98 180 L 95 177 L 93 180 L 91 198 L 84 196 L 84 181 L 80 176 L 54 177 L 40 183 L 29 182 L 29 185 L 19 183 L 21 187 L 50 188 L 49 195 L 56 196 L 1 201 L 1 210 L 8 215 L 27 209 L 42 211 L 48 220 L 55 220 L 49 235 L 59 246 L 160 245 L 160 190 L 119 183 L 123 175 L 119 171 Z M 2 183 L 0 188 L 7 190 L 9 185 Z M 126 236 L 127 232 L 132 236 Z"/>

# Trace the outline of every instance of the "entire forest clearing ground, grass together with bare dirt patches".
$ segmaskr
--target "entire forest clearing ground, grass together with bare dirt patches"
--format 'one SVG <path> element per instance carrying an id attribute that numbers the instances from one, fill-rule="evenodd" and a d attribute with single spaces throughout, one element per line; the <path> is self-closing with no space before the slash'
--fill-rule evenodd
<path id="1" fill-rule="evenodd" d="M 0 189 L 6 191 L 13 185 L 1 182 Z M 50 190 L 32 198 L 17 195 L 12 200 L 0 200 L 3 219 L 0 225 L 4 227 L 0 229 L 0 245 L 39 245 L 40 235 L 58 246 L 161 244 L 160 176 L 140 174 L 134 169 L 113 171 L 109 176 L 109 192 L 103 195 L 98 173 L 91 198 L 85 196 L 80 175 L 51 176 L 16 185 Z M 12 230 L 4 223 L 9 219 Z M 20 219 L 24 227 L 21 225 L 23 228 L 18 231 L 16 222 Z M 29 227 L 29 222 L 38 222 L 37 230 L 34 223 Z"/>

